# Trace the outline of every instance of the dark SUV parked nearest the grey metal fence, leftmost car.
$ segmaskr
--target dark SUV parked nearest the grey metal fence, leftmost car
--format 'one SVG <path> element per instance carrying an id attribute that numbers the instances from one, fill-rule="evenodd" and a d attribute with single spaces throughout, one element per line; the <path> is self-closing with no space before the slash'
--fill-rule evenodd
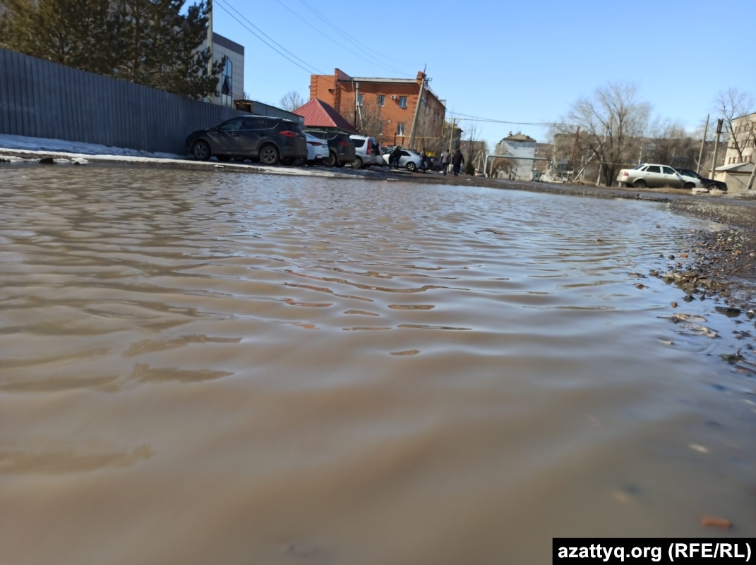
<path id="1" fill-rule="evenodd" d="M 187 137 L 186 147 L 200 161 L 215 156 L 218 161 L 249 158 L 276 165 L 307 159 L 302 124 L 270 116 L 238 116 L 215 128 L 194 131 Z"/>

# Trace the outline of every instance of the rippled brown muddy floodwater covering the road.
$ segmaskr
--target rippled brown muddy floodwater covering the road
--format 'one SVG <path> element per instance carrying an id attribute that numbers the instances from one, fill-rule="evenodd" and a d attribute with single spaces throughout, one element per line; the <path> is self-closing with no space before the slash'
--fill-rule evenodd
<path id="1" fill-rule="evenodd" d="M 0 563 L 537 565 L 553 537 L 753 536 L 756 379 L 720 356 L 756 329 L 649 276 L 700 227 L 657 202 L 2 168 Z"/>

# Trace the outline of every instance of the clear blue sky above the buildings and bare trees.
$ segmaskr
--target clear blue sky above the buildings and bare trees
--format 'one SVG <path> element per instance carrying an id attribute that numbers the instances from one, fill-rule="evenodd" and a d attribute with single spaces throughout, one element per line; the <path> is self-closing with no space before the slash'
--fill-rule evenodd
<path id="1" fill-rule="evenodd" d="M 652 115 L 695 131 L 720 91 L 756 96 L 756 0 L 215 0 L 213 29 L 245 48 L 244 91 L 309 99 L 310 74 L 413 78 L 491 150 L 510 131 L 548 141 L 572 103 L 637 85 Z M 497 122 L 474 122 L 469 116 Z M 714 116 L 712 115 L 712 118 Z"/>

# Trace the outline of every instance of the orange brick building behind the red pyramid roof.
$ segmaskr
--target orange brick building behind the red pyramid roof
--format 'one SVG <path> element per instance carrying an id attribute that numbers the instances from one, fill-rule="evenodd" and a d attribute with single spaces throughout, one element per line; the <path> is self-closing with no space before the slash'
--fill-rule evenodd
<path id="1" fill-rule="evenodd" d="M 440 150 L 446 107 L 428 86 L 425 73 L 416 79 L 378 79 L 333 75 L 310 76 L 310 100 L 329 103 L 339 114 L 386 145 Z"/>

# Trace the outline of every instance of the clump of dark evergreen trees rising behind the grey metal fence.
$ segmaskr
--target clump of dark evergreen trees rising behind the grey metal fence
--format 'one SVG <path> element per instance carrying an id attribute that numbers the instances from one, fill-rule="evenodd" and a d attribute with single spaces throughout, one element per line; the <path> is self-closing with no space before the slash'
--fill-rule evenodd
<path id="1" fill-rule="evenodd" d="M 208 0 L 211 2 L 211 0 Z M 209 3 L 184 0 L 5 0 L 0 46 L 187 97 L 218 87 L 225 61 L 200 50 Z"/>

